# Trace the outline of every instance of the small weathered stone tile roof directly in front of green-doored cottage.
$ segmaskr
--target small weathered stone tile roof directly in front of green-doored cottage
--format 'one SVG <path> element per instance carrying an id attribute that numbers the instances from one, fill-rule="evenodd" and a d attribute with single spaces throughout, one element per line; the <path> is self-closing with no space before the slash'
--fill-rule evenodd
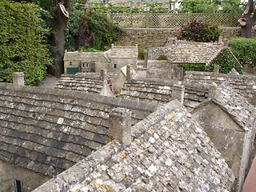
<path id="1" fill-rule="evenodd" d="M 114 74 L 108 73 L 107 80 L 111 81 Z M 56 84 L 56 89 L 79 90 L 85 93 L 99 94 L 102 90 L 103 80 L 98 73 L 62 74 Z"/>

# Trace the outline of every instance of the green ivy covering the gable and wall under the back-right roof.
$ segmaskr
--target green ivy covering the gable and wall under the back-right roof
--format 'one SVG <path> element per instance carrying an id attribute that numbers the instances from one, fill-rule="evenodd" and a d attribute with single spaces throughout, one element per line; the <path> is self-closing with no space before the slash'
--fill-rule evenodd
<path id="1" fill-rule="evenodd" d="M 194 71 L 206 71 L 213 72 L 214 66 L 219 66 L 219 72 L 222 74 L 228 74 L 234 68 L 239 74 L 242 74 L 242 68 L 235 62 L 234 58 L 230 54 L 229 50 L 223 50 L 221 54 L 214 60 L 210 66 L 205 66 L 202 64 L 180 64 L 184 70 L 194 70 Z"/>

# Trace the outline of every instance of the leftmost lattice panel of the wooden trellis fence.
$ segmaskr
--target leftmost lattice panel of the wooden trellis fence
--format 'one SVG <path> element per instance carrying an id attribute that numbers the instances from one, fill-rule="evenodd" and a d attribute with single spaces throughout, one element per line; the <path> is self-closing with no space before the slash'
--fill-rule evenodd
<path id="1" fill-rule="evenodd" d="M 111 14 L 112 22 L 118 26 L 143 27 L 146 26 L 146 14 Z"/>

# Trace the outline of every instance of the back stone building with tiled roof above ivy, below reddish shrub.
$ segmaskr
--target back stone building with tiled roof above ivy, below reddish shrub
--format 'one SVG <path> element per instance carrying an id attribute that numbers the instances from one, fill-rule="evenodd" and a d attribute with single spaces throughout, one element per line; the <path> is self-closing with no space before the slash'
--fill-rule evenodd
<path id="1" fill-rule="evenodd" d="M 148 49 L 146 77 L 180 79 L 184 76 L 184 71 L 178 67 L 179 64 L 210 66 L 223 50 L 229 50 L 237 65 L 242 67 L 227 42 L 186 42 L 169 38 L 163 46 Z M 168 60 L 157 60 L 162 54 Z"/>

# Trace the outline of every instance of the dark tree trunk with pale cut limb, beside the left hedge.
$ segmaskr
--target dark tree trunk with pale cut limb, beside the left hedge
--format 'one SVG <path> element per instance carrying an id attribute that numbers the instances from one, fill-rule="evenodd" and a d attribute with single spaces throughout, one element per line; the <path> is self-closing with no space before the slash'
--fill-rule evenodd
<path id="1" fill-rule="evenodd" d="M 50 74 L 60 78 L 64 73 L 64 40 L 66 24 L 69 20 L 69 12 L 66 11 L 65 6 L 62 4 L 58 5 L 57 13 L 51 21 L 51 26 L 54 31 L 53 33 L 53 46 L 56 46 L 58 52 L 54 54 L 54 67 L 50 67 Z"/>

